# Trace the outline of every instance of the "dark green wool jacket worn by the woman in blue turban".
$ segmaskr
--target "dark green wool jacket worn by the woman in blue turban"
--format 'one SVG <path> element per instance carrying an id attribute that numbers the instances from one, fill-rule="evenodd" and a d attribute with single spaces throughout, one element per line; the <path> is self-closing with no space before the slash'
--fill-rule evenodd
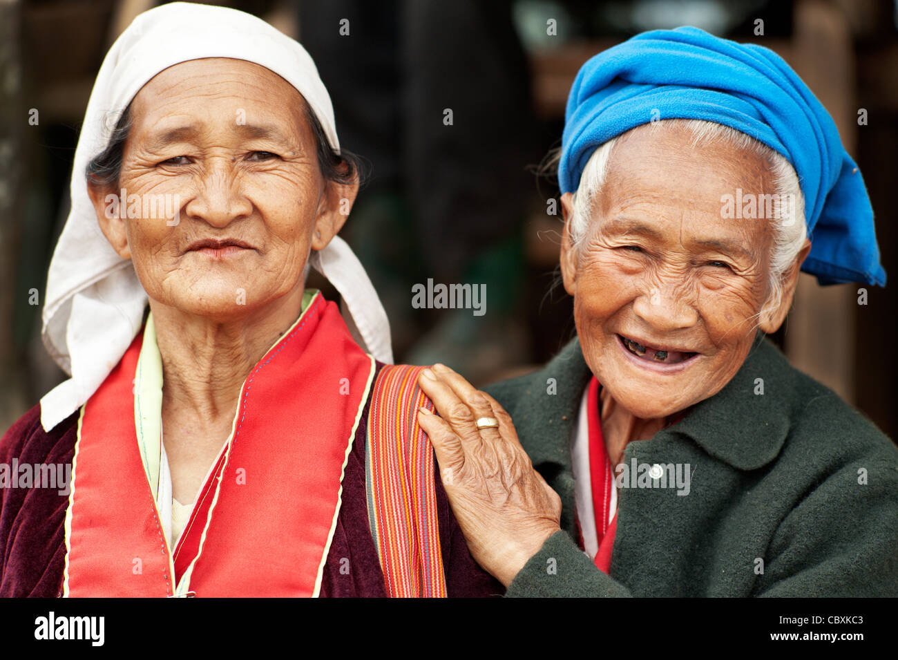
<path id="1" fill-rule="evenodd" d="M 723 390 L 627 445 L 627 465 L 688 463 L 690 490 L 621 488 L 606 576 L 573 538 L 570 440 L 591 376 L 574 339 L 486 388 L 562 503 L 563 532 L 506 595 L 898 595 L 898 448 L 760 336 Z"/>

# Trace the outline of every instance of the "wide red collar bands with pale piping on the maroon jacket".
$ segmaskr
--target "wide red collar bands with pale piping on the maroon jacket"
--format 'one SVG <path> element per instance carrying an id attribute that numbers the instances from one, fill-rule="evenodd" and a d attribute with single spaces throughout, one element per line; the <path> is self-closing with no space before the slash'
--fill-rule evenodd
<path id="1" fill-rule="evenodd" d="M 200 596 L 318 595 L 374 373 L 337 305 L 316 294 L 247 377 L 233 436 L 173 555 L 134 426 L 142 344 L 138 333 L 84 406 L 66 523 L 66 594 L 171 596 L 187 573 Z M 344 381 L 346 391 L 329 387 Z M 327 414 L 297 414 L 295 400 L 315 401 Z"/>

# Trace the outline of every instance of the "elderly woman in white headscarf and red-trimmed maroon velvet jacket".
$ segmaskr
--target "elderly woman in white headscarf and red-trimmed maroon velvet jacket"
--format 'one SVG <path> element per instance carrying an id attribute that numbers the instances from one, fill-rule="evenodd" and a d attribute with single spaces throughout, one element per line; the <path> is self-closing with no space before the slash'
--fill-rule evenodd
<path id="1" fill-rule="evenodd" d="M 496 590 L 435 479 L 418 369 L 385 364 L 337 236 L 357 189 L 294 40 L 185 3 L 119 37 L 48 276 L 43 337 L 71 378 L 0 442 L 0 594 Z M 48 466 L 71 479 L 48 488 Z"/>

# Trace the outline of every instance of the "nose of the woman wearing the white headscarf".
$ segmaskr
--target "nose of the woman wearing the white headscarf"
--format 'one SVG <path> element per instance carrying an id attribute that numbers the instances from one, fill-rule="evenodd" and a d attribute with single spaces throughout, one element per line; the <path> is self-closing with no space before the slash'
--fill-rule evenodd
<path id="1" fill-rule="evenodd" d="M 229 158 L 207 163 L 198 174 L 197 194 L 184 212 L 189 218 L 225 227 L 234 220 L 250 216 L 252 204 L 241 192 L 240 179 Z"/>

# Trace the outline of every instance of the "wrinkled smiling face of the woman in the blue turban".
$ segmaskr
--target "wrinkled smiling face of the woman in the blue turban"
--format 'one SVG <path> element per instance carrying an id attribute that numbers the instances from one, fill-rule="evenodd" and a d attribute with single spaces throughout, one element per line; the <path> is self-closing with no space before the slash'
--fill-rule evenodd
<path id="1" fill-rule="evenodd" d="M 566 230 L 562 246 L 585 360 L 639 418 L 719 392 L 757 328 L 782 321 L 761 314 L 771 221 L 726 217 L 735 214 L 721 201 L 736 189 L 772 194 L 768 164 L 723 142 L 696 149 L 691 139 L 675 125 L 621 136 L 582 242 L 571 246 Z"/>

